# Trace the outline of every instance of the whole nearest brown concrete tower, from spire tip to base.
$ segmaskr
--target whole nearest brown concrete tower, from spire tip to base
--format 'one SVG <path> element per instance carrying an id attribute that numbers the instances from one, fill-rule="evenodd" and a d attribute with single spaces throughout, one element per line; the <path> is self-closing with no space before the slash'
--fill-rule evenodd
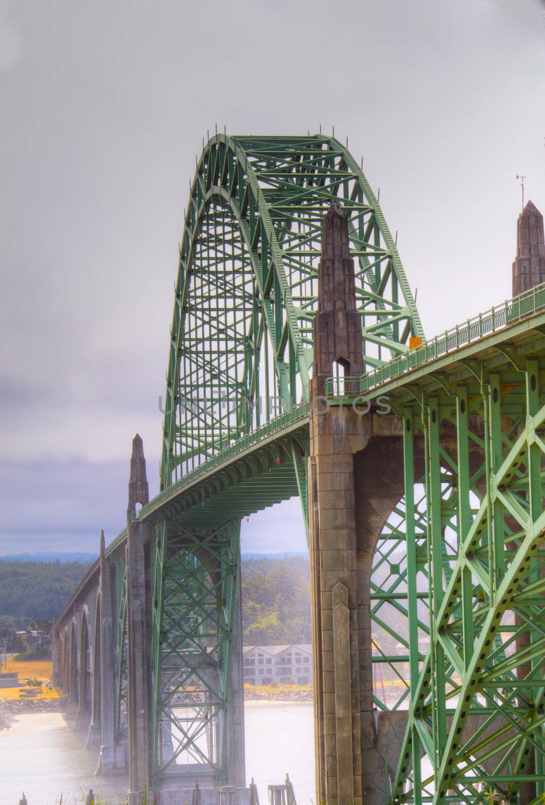
<path id="1" fill-rule="evenodd" d="M 363 415 L 349 404 L 328 407 L 324 398 L 335 367 L 346 378 L 364 370 L 348 225 L 336 204 L 322 224 L 313 328 L 308 512 L 316 799 L 386 805 L 384 741 L 373 704 L 370 572 L 380 530 L 403 495 L 403 452 L 401 440 L 390 438 L 401 434 L 397 417 Z M 343 379 L 336 394 L 354 394 L 349 384 Z M 370 450 L 371 436 L 378 438 Z M 377 458 L 371 474 L 361 461 L 368 452 Z M 402 477 L 392 486 L 395 460 Z"/>

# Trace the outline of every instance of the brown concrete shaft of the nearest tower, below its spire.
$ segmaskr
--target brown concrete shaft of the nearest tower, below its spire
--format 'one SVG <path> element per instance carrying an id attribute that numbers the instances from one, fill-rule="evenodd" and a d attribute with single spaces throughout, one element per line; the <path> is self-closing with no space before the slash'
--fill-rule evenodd
<path id="1" fill-rule="evenodd" d="M 362 770 L 373 713 L 362 708 L 361 692 L 370 689 L 372 697 L 373 679 L 370 630 L 360 622 L 370 612 L 370 600 L 368 590 L 358 588 L 353 461 L 367 444 L 368 422 L 339 410 L 311 420 L 316 798 L 328 805 L 384 805 L 382 780 L 365 776 L 364 782 Z"/>

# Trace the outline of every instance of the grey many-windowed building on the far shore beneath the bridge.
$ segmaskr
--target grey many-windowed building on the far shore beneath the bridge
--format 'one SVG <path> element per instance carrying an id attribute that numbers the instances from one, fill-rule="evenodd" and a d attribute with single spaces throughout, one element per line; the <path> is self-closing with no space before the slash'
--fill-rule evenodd
<path id="1" fill-rule="evenodd" d="M 312 684 L 312 645 L 243 646 L 242 665 L 247 685 L 271 682 Z"/>

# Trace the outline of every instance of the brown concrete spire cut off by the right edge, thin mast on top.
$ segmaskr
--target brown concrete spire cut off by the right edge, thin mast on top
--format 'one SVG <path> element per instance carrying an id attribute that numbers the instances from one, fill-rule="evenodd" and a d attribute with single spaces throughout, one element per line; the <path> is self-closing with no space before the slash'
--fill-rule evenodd
<path id="1" fill-rule="evenodd" d="M 517 256 L 513 263 L 513 295 L 522 294 L 545 281 L 543 215 L 528 201 L 518 216 Z"/>

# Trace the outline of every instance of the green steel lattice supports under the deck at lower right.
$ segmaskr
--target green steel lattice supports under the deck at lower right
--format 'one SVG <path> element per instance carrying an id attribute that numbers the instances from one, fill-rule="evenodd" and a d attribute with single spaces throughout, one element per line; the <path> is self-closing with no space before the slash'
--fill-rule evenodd
<path id="1" fill-rule="evenodd" d="M 537 803 L 545 792 L 545 361 L 518 367 L 486 372 L 475 362 L 475 376 L 443 378 L 436 394 L 421 392 L 418 405 L 402 409 L 411 701 L 394 803 L 484 803 L 487 789 L 515 802 L 525 785 L 523 801 Z M 445 551 L 449 529 L 454 551 Z M 417 637 L 424 589 L 425 658 Z M 431 778 L 421 778 L 422 753 Z"/>

